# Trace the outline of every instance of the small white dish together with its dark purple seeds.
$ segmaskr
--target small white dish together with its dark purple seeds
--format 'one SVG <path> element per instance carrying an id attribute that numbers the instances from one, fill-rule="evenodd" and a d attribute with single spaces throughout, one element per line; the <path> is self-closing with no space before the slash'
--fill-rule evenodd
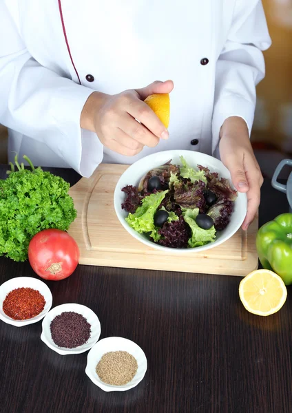
<path id="1" fill-rule="evenodd" d="M 88 307 L 76 303 L 61 304 L 43 319 L 42 341 L 61 355 L 90 350 L 101 335 L 101 323 Z"/>

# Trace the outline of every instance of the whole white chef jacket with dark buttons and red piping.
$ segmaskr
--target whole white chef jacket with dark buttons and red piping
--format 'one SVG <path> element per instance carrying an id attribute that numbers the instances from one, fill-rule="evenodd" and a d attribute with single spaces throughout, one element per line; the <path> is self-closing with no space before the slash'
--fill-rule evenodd
<path id="1" fill-rule="evenodd" d="M 0 123 L 9 158 L 72 167 L 131 164 L 167 149 L 218 156 L 229 116 L 251 131 L 262 50 L 271 39 L 259 0 L 2 0 Z M 174 81 L 169 140 L 134 157 L 80 127 L 88 96 Z"/>

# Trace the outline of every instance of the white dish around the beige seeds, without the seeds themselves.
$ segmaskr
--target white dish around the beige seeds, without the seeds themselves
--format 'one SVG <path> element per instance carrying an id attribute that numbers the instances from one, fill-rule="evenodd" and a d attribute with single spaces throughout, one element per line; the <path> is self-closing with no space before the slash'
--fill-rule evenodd
<path id="1" fill-rule="evenodd" d="M 138 370 L 133 379 L 125 385 L 110 385 L 104 383 L 96 373 L 96 366 L 101 360 L 101 357 L 103 357 L 103 354 L 112 351 L 127 351 L 129 354 L 132 354 L 137 361 Z M 143 380 L 146 371 L 147 359 L 142 348 L 134 343 L 134 341 L 124 339 L 123 337 L 107 337 L 106 339 L 102 339 L 98 341 L 87 354 L 85 373 L 95 385 L 105 392 L 125 392 L 125 390 L 136 387 L 136 385 Z"/>

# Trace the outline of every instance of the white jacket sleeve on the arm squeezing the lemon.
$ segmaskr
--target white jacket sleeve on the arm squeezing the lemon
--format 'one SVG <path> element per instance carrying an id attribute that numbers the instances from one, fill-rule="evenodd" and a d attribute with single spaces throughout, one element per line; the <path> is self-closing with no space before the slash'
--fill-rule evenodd
<path id="1" fill-rule="evenodd" d="M 82 176 L 91 176 L 103 147 L 95 134 L 81 129 L 80 116 L 93 90 L 32 58 L 5 1 L 0 1 L 0 39 L 6 39 L 0 41 L 0 123 L 43 142 Z"/>

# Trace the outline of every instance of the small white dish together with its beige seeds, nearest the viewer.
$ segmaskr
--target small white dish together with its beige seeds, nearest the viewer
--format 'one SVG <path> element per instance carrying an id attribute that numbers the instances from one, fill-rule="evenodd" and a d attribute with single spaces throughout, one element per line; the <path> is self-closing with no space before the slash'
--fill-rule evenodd
<path id="1" fill-rule="evenodd" d="M 98 341 L 87 355 L 85 373 L 105 392 L 125 392 L 143 380 L 147 359 L 134 341 L 107 337 Z"/>

